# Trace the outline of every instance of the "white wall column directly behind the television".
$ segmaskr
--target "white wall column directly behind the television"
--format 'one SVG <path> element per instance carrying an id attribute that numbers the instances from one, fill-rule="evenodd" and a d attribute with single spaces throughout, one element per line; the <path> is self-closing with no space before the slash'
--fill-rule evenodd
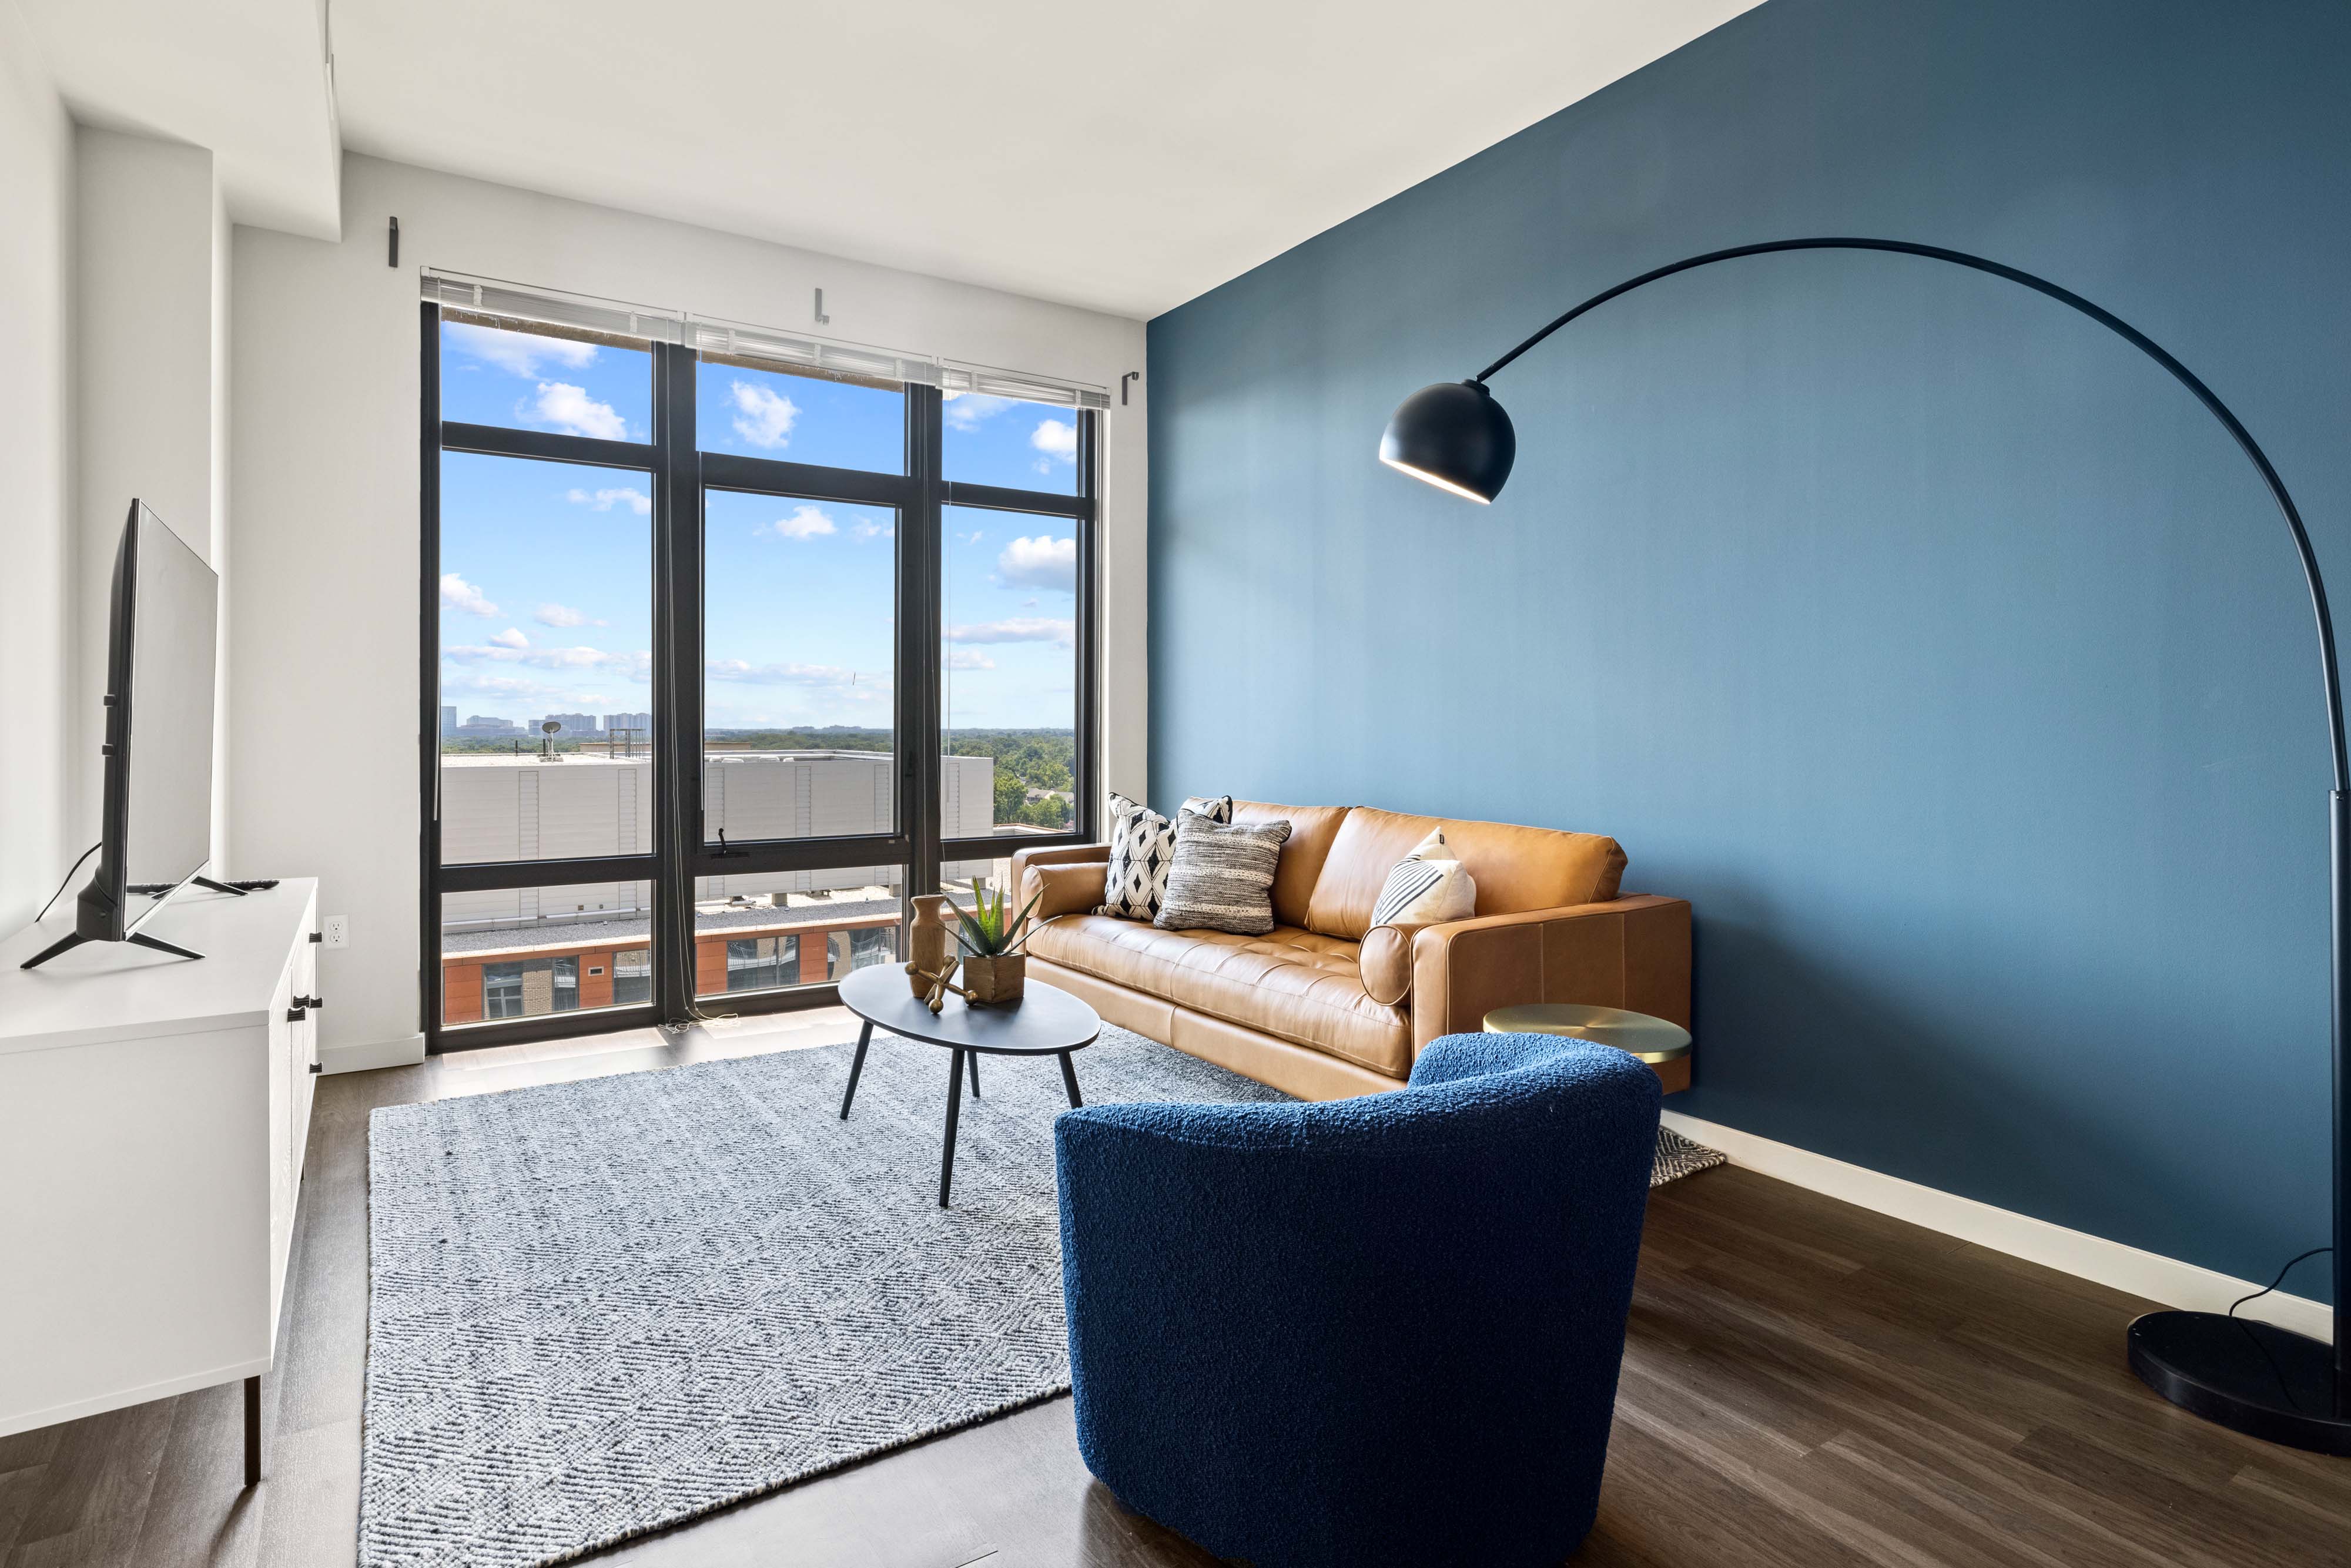
<path id="1" fill-rule="evenodd" d="M 146 501 L 228 578 L 228 219 L 212 153 L 75 132 L 75 679 L 71 820 L 99 835 L 108 588 L 122 520 Z M 226 618 L 226 607 L 223 607 Z M 228 637 L 223 632 L 223 646 Z M 221 672 L 221 691 L 228 672 Z M 216 736 L 216 757 L 221 755 Z M 214 867 L 228 865 L 226 771 L 214 776 Z"/>

